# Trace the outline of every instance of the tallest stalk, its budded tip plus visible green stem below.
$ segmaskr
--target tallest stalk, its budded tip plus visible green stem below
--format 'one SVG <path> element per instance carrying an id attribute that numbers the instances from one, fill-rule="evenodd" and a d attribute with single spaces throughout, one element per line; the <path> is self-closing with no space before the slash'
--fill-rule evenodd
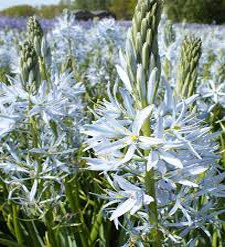
<path id="1" fill-rule="evenodd" d="M 125 54 L 126 70 L 130 81 L 133 82 L 136 105 L 139 109 L 154 102 L 159 86 L 161 64 L 158 49 L 158 25 L 161 10 L 161 0 L 140 0 L 128 33 Z M 150 83 L 152 85 L 149 85 Z M 150 88 L 151 97 L 146 93 Z M 148 137 L 151 135 L 149 120 L 144 123 L 142 133 Z M 145 152 L 145 155 L 148 156 L 149 151 Z M 145 187 L 147 194 L 154 198 L 154 202 L 149 205 L 149 219 L 155 228 L 150 232 L 149 238 L 153 246 L 158 247 L 161 246 L 161 240 L 157 230 L 158 212 L 154 176 L 154 170 L 149 171 L 146 164 Z"/>

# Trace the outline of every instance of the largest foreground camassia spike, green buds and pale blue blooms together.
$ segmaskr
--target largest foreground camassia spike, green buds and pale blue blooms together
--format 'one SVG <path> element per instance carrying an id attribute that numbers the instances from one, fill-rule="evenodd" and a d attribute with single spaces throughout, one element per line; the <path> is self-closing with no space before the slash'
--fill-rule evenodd
<path id="1" fill-rule="evenodd" d="M 140 246 L 151 241 L 161 244 L 160 234 L 164 246 L 189 244 L 184 237 L 196 229 L 210 236 L 207 225 L 220 222 L 218 215 L 224 213 L 218 200 L 225 192 L 221 183 L 225 173 L 218 165 L 218 133 L 212 132 L 196 107 L 198 95 L 182 99 L 163 77 L 163 87 L 156 94 L 160 63 L 154 39 L 149 43 L 152 64 L 146 66 L 148 28 L 157 36 L 157 26 L 147 23 L 145 15 L 157 18 L 157 4 L 138 3 L 126 54 L 121 53 L 117 66 L 123 84 L 115 83 L 113 90 L 108 86 L 109 100 L 99 105 L 96 121 L 83 130 L 89 137 L 87 149 L 96 156 L 86 158 L 88 168 L 103 172 L 111 187 L 100 196 L 109 200 L 104 209 L 117 227 L 126 228 L 129 243 Z M 145 32 L 147 41 L 134 40 L 135 32 L 142 37 Z M 194 56 L 199 59 L 199 54 Z M 186 78 L 183 86 L 188 83 Z"/>

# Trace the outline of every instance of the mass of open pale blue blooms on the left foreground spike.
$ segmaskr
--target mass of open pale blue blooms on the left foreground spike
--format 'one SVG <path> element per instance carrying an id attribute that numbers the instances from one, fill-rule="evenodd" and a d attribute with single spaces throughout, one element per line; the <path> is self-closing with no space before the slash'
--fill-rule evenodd
<path id="1" fill-rule="evenodd" d="M 84 86 L 57 70 L 35 94 L 19 76 L 9 82 L 0 85 L 1 179 L 9 200 L 39 216 L 64 197 L 63 180 L 76 169 L 71 154 L 81 145 Z"/>

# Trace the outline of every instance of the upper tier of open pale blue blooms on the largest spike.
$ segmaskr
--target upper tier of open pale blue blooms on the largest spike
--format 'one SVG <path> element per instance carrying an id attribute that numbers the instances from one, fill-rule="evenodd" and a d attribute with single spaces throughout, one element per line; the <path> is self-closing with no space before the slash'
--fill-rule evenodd
<path id="1" fill-rule="evenodd" d="M 201 160 L 211 148 L 205 141 L 201 143 L 210 128 L 203 127 L 202 120 L 194 111 L 189 111 L 195 100 L 196 96 L 192 96 L 176 103 L 171 88 L 167 87 L 165 101 L 158 109 L 150 105 L 134 113 L 131 100 L 126 101 L 126 110 L 122 110 L 123 105 L 116 106 L 115 100 L 105 101 L 96 112 L 98 120 L 85 126 L 84 133 L 90 137 L 87 140 L 88 148 L 93 148 L 98 156 L 87 158 L 88 165 L 93 170 L 114 170 L 135 156 L 147 159 L 149 169 L 160 160 L 167 165 L 183 168 L 184 161 L 179 158 L 179 152 L 184 150 Z M 108 114 L 113 108 L 117 109 L 117 115 Z M 145 121 L 152 123 L 153 131 L 149 137 L 142 134 Z M 149 151 L 149 156 L 143 156 L 142 150 Z"/>

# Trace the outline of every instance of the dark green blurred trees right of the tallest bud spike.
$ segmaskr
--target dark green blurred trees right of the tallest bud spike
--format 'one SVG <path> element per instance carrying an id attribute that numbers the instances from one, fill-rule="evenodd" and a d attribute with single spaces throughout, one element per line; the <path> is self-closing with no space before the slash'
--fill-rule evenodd
<path id="1" fill-rule="evenodd" d="M 176 22 L 225 22 L 225 0 L 166 0 L 165 6 L 169 18 Z"/>

